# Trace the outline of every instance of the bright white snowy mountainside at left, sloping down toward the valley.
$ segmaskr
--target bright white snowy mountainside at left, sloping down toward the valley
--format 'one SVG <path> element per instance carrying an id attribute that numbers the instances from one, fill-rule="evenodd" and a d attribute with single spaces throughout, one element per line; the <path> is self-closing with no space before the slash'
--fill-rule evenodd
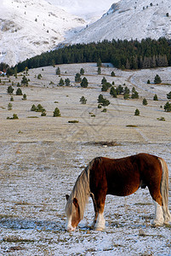
<path id="1" fill-rule="evenodd" d="M 12 66 L 53 49 L 85 25 L 44 0 L 1 0 L 0 62 Z"/>

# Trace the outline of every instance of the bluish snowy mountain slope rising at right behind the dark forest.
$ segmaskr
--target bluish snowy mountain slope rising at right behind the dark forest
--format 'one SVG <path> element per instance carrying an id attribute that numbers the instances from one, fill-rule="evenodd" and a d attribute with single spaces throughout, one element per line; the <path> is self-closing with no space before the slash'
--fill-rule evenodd
<path id="1" fill-rule="evenodd" d="M 160 37 L 171 38 L 171 0 L 121 0 L 69 44 Z"/>

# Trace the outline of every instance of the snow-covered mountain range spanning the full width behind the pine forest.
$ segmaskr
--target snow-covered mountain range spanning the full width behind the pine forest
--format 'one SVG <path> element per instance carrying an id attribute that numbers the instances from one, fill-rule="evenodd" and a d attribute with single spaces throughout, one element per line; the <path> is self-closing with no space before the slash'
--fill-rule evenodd
<path id="1" fill-rule="evenodd" d="M 171 0 L 0 2 L 0 62 L 10 66 L 54 49 L 60 43 L 86 44 L 113 38 L 171 38 Z M 73 15 L 87 20 L 91 16 L 92 19 L 92 15 L 96 17 L 103 12 L 110 2 L 114 2 L 111 9 L 91 25 L 87 26 L 82 18 Z"/>

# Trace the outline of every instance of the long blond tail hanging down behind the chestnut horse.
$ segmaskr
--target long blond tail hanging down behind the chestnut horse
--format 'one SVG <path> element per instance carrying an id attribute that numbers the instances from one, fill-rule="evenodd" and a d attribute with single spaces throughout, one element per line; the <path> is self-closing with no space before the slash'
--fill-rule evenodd
<path id="1" fill-rule="evenodd" d="M 162 180 L 160 184 L 160 192 L 162 195 L 162 212 L 164 216 L 164 223 L 168 224 L 171 221 L 171 215 L 168 210 L 168 166 L 165 160 L 158 158 L 162 165 Z"/>

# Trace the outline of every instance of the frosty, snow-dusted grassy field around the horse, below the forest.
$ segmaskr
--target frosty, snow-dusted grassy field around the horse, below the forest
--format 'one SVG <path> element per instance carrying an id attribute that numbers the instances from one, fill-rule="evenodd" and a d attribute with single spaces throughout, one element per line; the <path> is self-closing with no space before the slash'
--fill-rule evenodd
<path id="1" fill-rule="evenodd" d="M 71 234 L 65 230 L 65 195 L 71 192 L 83 167 L 96 156 L 157 154 L 167 161 L 171 182 L 171 113 L 163 109 L 171 90 L 171 69 L 121 71 L 105 66 L 100 75 L 94 63 L 29 70 L 28 86 L 20 87 L 26 100 L 15 95 L 23 73 L 16 79 L 1 77 L 1 255 L 171 254 L 171 225 L 151 227 L 154 207 L 148 189 L 126 198 L 107 196 L 106 228 L 102 232 L 89 229 L 94 216 L 92 201 L 77 230 Z M 60 77 L 55 74 L 57 67 Z M 88 79 L 85 89 L 75 83 L 82 67 L 82 77 Z M 111 71 L 115 77 L 111 77 Z M 37 79 L 40 73 L 42 78 Z M 156 74 L 162 84 L 152 83 Z M 130 91 L 134 86 L 139 99 L 113 98 L 109 90 L 102 92 L 103 77 L 115 86 L 128 86 Z M 58 86 L 61 78 L 69 78 L 71 85 Z M 151 84 L 146 83 L 148 79 Z M 14 102 L 7 93 L 12 83 Z M 98 108 L 100 94 L 111 102 L 106 113 Z M 155 94 L 158 101 L 153 101 Z M 85 105 L 80 103 L 82 96 L 87 99 Z M 41 104 L 46 116 L 31 111 L 33 104 Z M 60 117 L 53 117 L 54 108 L 60 109 Z M 134 115 L 136 108 L 140 116 Z M 19 119 L 10 119 L 14 113 Z"/>

